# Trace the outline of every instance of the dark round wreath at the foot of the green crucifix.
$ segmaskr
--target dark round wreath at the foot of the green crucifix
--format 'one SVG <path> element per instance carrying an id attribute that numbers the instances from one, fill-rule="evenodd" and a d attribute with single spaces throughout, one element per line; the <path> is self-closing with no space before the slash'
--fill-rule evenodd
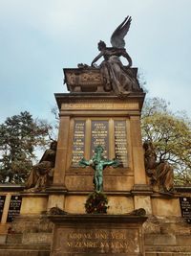
<path id="1" fill-rule="evenodd" d="M 93 192 L 91 193 L 85 203 L 85 209 L 87 214 L 99 214 L 99 213 L 107 213 L 107 209 L 109 208 L 108 198 L 105 194 L 101 192 Z"/>

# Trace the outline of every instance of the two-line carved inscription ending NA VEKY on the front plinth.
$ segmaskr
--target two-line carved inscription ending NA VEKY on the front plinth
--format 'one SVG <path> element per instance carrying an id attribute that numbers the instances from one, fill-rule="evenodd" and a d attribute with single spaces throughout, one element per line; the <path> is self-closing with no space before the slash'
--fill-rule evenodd
<path id="1" fill-rule="evenodd" d="M 109 251 L 111 254 L 139 252 L 138 229 L 68 230 L 64 238 L 61 239 L 61 244 L 68 252 L 88 252 L 92 248 L 96 253 Z"/>

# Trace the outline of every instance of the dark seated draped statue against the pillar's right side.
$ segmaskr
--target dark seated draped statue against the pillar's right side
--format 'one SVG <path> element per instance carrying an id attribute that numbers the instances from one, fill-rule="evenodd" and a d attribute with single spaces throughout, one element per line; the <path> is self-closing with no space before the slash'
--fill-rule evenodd
<path id="1" fill-rule="evenodd" d="M 150 177 L 151 185 L 159 186 L 160 192 L 172 193 L 174 191 L 173 168 L 166 161 L 157 161 L 157 154 L 152 142 L 144 142 L 143 148 L 145 171 Z"/>

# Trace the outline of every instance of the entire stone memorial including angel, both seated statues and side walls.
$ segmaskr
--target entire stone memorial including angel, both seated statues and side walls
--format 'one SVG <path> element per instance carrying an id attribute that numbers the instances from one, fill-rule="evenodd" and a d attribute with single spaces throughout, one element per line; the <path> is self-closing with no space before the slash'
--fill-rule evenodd
<path id="1" fill-rule="evenodd" d="M 191 255 L 191 189 L 176 188 L 173 168 L 141 139 L 130 24 L 117 27 L 112 47 L 98 42 L 91 65 L 64 68 L 57 142 L 25 186 L 0 186 L 0 256 Z"/>

